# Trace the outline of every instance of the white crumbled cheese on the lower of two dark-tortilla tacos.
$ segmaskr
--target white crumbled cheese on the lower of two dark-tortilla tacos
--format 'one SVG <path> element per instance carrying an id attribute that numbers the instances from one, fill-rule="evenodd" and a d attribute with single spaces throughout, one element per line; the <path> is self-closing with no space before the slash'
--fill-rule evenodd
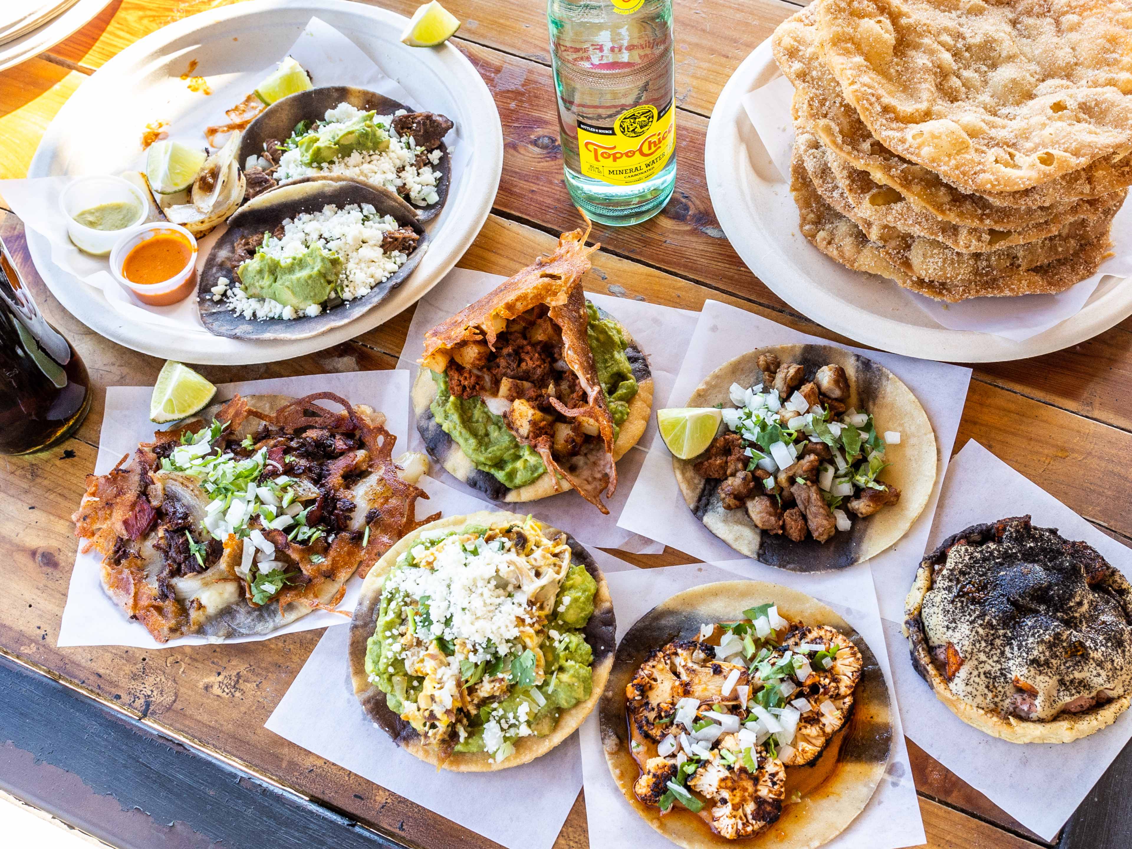
<path id="1" fill-rule="evenodd" d="M 401 226 L 392 215 L 378 215 L 370 204 L 350 204 L 341 209 L 327 205 L 321 212 L 302 213 L 283 220 L 283 238 L 266 238 L 257 250 L 276 259 L 302 254 L 311 245 L 319 245 L 342 260 L 342 271 L 335 293 L 343 301 L 369 293 L 385 282 L 409 258 L 398 250 L 386 254 L 381 249 L 385 233 Z M 240 288 L 239 278 L 220 277 L 212 288 L 214 301 L 226 301 L 229 309 L 245 318 L 282 318 L 289 320 L 301 315 L 317 316 L 323 305 L 314 303 L 302 312 L 285 307 L 271 298 L 249 298 Z"/>

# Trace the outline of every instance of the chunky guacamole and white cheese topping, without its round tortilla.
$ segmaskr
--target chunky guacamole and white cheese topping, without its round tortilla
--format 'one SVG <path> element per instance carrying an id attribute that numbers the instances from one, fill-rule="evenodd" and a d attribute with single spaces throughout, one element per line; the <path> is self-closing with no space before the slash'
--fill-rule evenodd
<path id="1" fill-rule="evenodd" d="M 541 531 L 529 517 L 522 526 L 470 525 L 428 539 L 422 535 L 386 576 L 367 644 L 366 674 L 386 694 L 389 710 L 423 737 L 444 740 L 456 752 L 488 752 L 503 760 L 516 739 L 544 737 L 563 711 L 590 698 L 593 651 L 582 628 L 593 615 L 594 578 L 583 565 L 572 563 L 552 597 L 535 591 L 529 599 L 528 588 L 505 577 L 512 574 L 507 556 L 524 550 L 531 556 L 541 549 L 540 555 L 566 563 L 571 552 L 565 538 L 550 540 Z M 492 577 L 486 567 L 496 560 L 500 572 Z M 501 638 L 501 645 L 490 640 L 475 644 L 482 640 L 483 620 L 469 619 L 466 609 L 494 619 L 509 602 L 495 594 L 488 602 L 494 610 L 482 611 L 484 602 L 477 598 L 470 574 L 482 574 L 491 586 L 504 584 L 509 598 L 528 611 L 520 619 L 531 625 L 520 626 L 518 638 Z M 469 598 L 445 598 L 438 585 L 458 585 Z M 438 611 L 445 617 L 439 625 L 432 620 L 434 612 L 441 615 Z M 446 698 L 466 707 L 430 711 Z"/>

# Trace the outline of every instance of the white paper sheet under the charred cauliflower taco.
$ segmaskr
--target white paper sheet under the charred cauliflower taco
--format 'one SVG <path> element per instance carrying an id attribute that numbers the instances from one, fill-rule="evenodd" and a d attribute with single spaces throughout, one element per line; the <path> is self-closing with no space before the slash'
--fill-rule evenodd
<path id="1" fill-rule="evenodd" d="M 664 599 L 692 586 L 715 581 L 734 581 L 736 574 L 753 581 L 770 581 L 809 593 L 840 614 L 860 632 L 876 654 L 895 707 L 892 672 L 886 662 L 884 632 L 881 628 L 876 595 L 873 593 L 868 567 L 864 565 L 841 572 L 791 574 L 754 560 L 739 559 L 659 569 L 634 569 L 607 575 L 606 581 L 617 609 L 618 641 L 637 619 Z M 829 849 L 895 849 L 926 842 L 899 711 L 892 711 L 892 721 L 893 746 L 885 775 L 860 815 L 841 834 L 825 843 Z M 582 726 L 581 740 L 590 846 L 635 849 L 671 847 L 671 842 L 653 831 L 629 807 L 614 783 L 601 748 L 597 713 Z"/>

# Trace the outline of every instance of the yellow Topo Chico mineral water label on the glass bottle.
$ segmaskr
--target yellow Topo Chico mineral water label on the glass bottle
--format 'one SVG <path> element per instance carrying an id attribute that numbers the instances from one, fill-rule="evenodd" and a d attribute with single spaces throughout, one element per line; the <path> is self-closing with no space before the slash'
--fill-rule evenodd
<path id="1" fill-rule="evenodd" d="M 669 103 L 633 106 L 614 126 L 577 122 L 577 153 L 582 173 L 614 186 L 632 186 L 655 177 L 676 149 L 676 110 Z"/>

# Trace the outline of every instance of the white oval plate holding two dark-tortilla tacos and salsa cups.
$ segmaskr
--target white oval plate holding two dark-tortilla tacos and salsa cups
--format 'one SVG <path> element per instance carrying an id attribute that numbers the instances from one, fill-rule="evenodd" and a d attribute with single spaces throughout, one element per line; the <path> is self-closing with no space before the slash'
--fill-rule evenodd
<path id="1" fill-rule="evenodd" d="M 185 362 L 242 365 L 300 357 L 387 321 L 431 289 L 472 243 L 491 211 L 503 172 L 503 129 L 491 93 L 453 45 L 408 48 L 398 41 L 406 18 L 344 0 L 252 0 L 186 18 L 142 38 L 106 62 L 63 105 L 40 143 L 28 177 L 127 168 L 121 149 L 134 144 L 134 134 L 121 128 L 136 125 L 139 103 L 146 114 L 152 110 L 151 120 L 162 118 L 175 127 L 178 115 L 162 109 L 169 103 L 162 86 L 171 78 L 179 82 L 190 59 L 209 78 L 264 67 L 284 54 L 314 16 L 404 86 L 412 105 L 452 118 L 457 144 L 475 152 L 464 168 L 453 161 L 447 203 L 427 225 L 431 242 L 417 271 L 381 305 L 334 331 L 306 340 L 249 342 L 201 334 L 199 327 L 178 332 L 126 320 L 100 290 L 53 265 L 48 240 L 28 232 L 32 259 L 48 288 L 93 331 L 143 353 Z"/>

